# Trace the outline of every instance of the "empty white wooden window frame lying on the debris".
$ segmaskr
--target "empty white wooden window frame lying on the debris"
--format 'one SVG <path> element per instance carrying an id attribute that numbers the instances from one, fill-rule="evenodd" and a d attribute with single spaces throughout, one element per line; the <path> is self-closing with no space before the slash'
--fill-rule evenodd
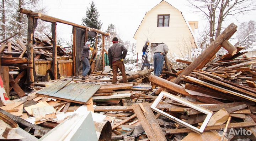
<path id="1" fill-rule="evenodd" d="M 191 108 L 193 108 L 193 109 L 195 109 L 195 110 L 198 110 L 198 111 L 200 111 L 200 112 L 202 112 L 202 113 L 207 114 L 206 118 L 204 119 L 204 122 L 203 122 L 202 126 L 201 126 L 200 128 L 194 127 L 193 125 L 188 124 L 188 123 L 186 123 L 186 122 L 184 122 L 184 121 L 182 121 L 182 120 L 180 120 L 180 119 L 178 119 L 178 118 L 176 118 L 176 117 L 174 117 L 174 116 L 172 116 L 172 115 L 170 115 L 170 114 L 168 114 L 168 113 L 166 113 L 166 112 L 164 112 L 164 111 L 161 111 L 161 110 L 159 110 L 158 108 L 156 108 L 156 106 L 157 106 L 158 103 L 161 101 L 161 99 L 162 99 L 163 96 L 166 96 L 166 97 L 168 97 L 168 98 L 170 98 L 170 99 L 173 99 L 173 100 L 175 100 L 175 101 L 177 101 L 177 102 L 180 102 L 181 104 L 184 104 L 184 105 L 186 105 L 186 106 L 188 106 L 188 107 L 191 107 Z M 203 133 L 204 128 L 205 128 L 206 125 L 208 124 L 210 118 L 212 117 L 212 113 L 213 113 L 212 111 L 207 110 L 206 108 L 200 107 L 200 106 L 198 106 L 198 105 L 196 105 L 196 104 L 193 104 L 193 103 L 191 103 L 191 102 L 189 102 L 189 101 L 187 101 L 187 100 L 184 100 L 184 99 L 182 99 L 182 98 L 179 98 L 179 97 L 177 97 L 177 96 L 175 96 L 175 95 L 169 94 L 169 93 L 164 92 L 164 91 L 162 91 L 162 92 L 158 95 L 158 97 L 156 98 L 156 100 L 155 100 L 155 101 L 153 102 L 153 104 L 151 105 L 151 108 L 152 108 L 152 110 L 154 110 L 155 112 L 158 112 L 158 113 L 161 114 L 162 116 L 165 116 L 165 117 L 171 119 L 172 121 L 175 121 L 175 122 L 177 122 L 178 124 L 181 124 L 182 126 L 187 127 L 187 128 L 189 128 L 189 129 L 191 129 L 191 130 L 193 130 L 193 131 L 195 131 L 196 133 L 199 133 L 199 134 L 202 134 L 202 133 Z"/>

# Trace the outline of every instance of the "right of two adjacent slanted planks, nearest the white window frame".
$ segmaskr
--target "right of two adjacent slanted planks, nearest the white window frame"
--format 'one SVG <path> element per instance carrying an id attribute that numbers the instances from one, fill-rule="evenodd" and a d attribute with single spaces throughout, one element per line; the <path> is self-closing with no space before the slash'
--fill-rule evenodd
<path id="1" fill-rule="evenodd" d="M 155 118 L 153 111 L 150 108 L 150 105 L 148 103 L 141 103 L 140 107 L 142 107 L 145 118 L 152 128 L 154 134 L 157 136 L 158 140 L 167 141 L 158 121 Z"/>

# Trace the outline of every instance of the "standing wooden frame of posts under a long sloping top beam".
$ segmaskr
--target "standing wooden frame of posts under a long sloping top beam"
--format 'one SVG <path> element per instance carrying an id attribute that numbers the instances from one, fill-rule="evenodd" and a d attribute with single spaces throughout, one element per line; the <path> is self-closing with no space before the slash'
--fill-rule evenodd
<path id="1" fill-rule="evenodd" d="M 109 36 L 110 33 L 104 33 L 103 31 L 94 29 L 94 28 L 89 28 L 83 25 L 79 25 L 79 24 L 75 24 L 66 20 L 62 20 L 62 19 L 58 19 L 55 17 L 51 17 L 48 16 L 46 14 L 42 14 L 42 13 L 37 13 L 37 12 L 33 12 L 31 10 L 27 10 L 24 8 L 20 8 L 19 10 L 20 13 L 23 14 L 27 14 L 28 16 L 28 45 L 27 45 L 27 54 L 28 54 L 28 59 L 32 62 L 31 67 L 32 69 L 28 69 L 28 80 L 30 81 L 31 85 L 33 85 L 34 83 L 34 57 L 33 57 L 33 34 L 34 34 L 34 30 L 36 28 L 37 25 L 37 19 L 41 19 L 44 20 L 46 22 L 50 22 L 52 23 L 52 40 L 53 40 L 53 67 L 52 67 L 52 71 L 53 71 L 53 75 L 54 75 L 54 79 L 57 79 L 57 75 L 58 75 L 58 71 L 57 71 L 57 23 L 63 23 L 63 24 L 67 24 L 67 25 L 71 25 L 73 26 L 74 32 L 73 32 L 73 75 L 77 75 L 76 74 L 76 30 L 74 27 L 77 28 L 82 28 L 85 29 L 85 41 L 87 41 L 88 39 L 88 34 L 87 31 L 94 31 L 98 34 L 102 35 L 102 54 L 104 55 L 104 52 L 106 52 L 105 49 L 105 37 Z M 96 37 L 97 37 L 96 36 Z M 96 46 L 97 47 L 97 46 Z M 106 52 L 107 53 L 107 52 Z M 104 59 L 102 59 L 102 65 L 104 66 Z"/>

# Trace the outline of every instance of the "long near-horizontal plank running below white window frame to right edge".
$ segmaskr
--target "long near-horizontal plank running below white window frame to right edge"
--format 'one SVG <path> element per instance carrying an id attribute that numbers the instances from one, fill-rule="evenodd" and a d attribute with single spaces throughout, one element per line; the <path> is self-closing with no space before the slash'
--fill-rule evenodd
<path id="1" fill-rule="evenodd" d="M 225 128 L 226 124 L 223 125 L 211 125 L 207 126 L 204 131 L 211 131 L 211 130 L 218 130 L 221 128 Z M 239 123 L 230 123 L 228 128 L 244 128 L 244 127 L 254 127 L 256 126 L 255 122 L 239 122 Z M 181 129 L 166 129 L 167 134 L 181 134 L 181 133 L 190 133 L 193 132 L 188 128 L 181 128 Z"/>

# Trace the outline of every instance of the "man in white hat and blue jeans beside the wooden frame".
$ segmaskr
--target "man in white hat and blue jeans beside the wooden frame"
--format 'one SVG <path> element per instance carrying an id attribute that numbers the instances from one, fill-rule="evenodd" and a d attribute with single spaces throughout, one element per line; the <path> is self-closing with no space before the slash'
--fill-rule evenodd
<path id="1" fill-rule="evenodd" d="M 91 69 L 91 65 L 89 63 L 89 50 L 93 51 L 90 42 L 86 42 L 85 46 L 82 48 L 81 61 L 83 65 L 83 73 L 82 80 L 85 80 L 86 75 Z"/>

